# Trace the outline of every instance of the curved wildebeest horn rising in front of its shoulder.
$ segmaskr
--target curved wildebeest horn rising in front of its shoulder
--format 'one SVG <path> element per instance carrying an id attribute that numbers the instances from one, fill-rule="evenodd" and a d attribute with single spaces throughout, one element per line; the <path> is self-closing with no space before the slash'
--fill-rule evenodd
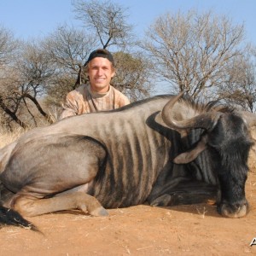
<path id="1" fill-rule="evenodd" d="M 184 91 L 173 97 L 163 108 L 161 114 L 166 125 L 175 130 L 193 128 L 212 130 L 217 124 L 221 113 L 212 112 L 198 114 L 194 108 L 191 108 L 189 102 L 178 101 L 183 94 Z"/>

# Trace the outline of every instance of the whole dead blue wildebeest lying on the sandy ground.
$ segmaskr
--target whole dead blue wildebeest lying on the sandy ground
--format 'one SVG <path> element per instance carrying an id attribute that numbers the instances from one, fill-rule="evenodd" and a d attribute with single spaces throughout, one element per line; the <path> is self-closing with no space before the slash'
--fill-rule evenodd
<path id="1" fill-rule="evenodd" d="M 247 214 L 253 113 L 155 96 L 26 132 L 0 150 L 0 222 L 67 209 L 173 206 L 216 195 L 225 217 Z M 23 218 L 25 217 L 25 218 Z"/>

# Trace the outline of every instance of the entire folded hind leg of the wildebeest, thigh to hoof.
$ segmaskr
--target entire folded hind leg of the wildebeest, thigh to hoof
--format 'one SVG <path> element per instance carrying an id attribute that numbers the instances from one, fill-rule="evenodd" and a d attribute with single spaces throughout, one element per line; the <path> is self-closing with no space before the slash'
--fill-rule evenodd
<path id="1" fill-rule="evenodd" d="M 108 214 L 86 189 L 76 190 L 91 184 L 98 170 L 104 170 L 107 152 L 102 143 L 91 137 L 61 134 L 41 137 L 29 146 L 17 148 L 2 173 L 3 184 L 15 191 L 4 207 L 29 217 L 69 209 L 96 216 Z"/>

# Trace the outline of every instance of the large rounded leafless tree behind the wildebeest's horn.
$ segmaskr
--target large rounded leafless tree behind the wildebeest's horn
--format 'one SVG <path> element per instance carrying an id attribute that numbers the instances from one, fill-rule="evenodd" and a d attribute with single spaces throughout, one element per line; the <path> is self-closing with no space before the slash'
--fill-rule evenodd
<path id="1" fill-rule="evenodd" d="M 155 73 L 171 84 L 171 92 L 187 90 L 194 98 L 211 95 L 226 79 L 227 67 L 241 54 L 243 26 L 212 12 L 160 16 L 146 33 L 143 48 Z"/>

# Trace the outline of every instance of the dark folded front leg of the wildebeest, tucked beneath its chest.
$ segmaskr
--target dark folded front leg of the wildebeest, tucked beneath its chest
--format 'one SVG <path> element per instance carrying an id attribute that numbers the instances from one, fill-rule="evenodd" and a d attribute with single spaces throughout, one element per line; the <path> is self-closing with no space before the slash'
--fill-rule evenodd
<path id="1" fill-rule="evenodd" d="M 174 180 L 177 181 L 176 186 L 171 185 L 169 188 L 165 186 L 161 191 L 158 191 L 158 195 L 151 195 L 148 198 L 151 206 L 170 207 L 216 200 L 217 186 L 196 180 L 186 180 L 184 177 L 176 177 Z"/>

